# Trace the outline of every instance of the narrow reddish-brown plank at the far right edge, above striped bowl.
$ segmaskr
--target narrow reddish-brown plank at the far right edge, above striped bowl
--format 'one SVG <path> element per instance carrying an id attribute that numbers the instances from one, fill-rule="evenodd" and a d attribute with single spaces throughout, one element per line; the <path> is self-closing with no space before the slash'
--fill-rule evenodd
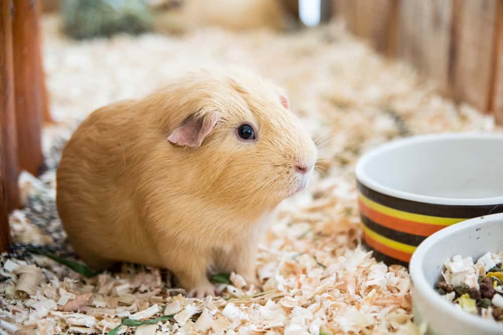
<path id="1" fill-rule="evenodd" d="M 498 2 L 496 15 L 496 34 L 494 36 L 493 84 L 491 109 L 496 124 L 503 125 L 503 1 Z"/>

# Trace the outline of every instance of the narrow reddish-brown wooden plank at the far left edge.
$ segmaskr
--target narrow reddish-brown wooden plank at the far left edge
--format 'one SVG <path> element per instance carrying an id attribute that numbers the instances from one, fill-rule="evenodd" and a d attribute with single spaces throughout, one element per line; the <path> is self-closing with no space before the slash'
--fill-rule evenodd
<path id="1" fill-rule="evenodd" d="M 2 1 L 0 14 L 0 142 L 8 210 L 19 207 L 14 68 L 12 59 L 11 1 Z"/>

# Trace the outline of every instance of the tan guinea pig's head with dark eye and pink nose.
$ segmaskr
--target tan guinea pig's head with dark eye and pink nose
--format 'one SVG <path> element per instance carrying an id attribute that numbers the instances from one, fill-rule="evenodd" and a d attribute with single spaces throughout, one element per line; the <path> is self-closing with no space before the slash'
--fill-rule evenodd
<path id="1" fill-rule="evenodd" d="M 249 73 L 194 78 L 183 98 L 192 111 L 167 137 L 198 175 L 187 189 L 213 204 L 260 212 L 306 187 L 316 146 L 279 87 Z"/>

